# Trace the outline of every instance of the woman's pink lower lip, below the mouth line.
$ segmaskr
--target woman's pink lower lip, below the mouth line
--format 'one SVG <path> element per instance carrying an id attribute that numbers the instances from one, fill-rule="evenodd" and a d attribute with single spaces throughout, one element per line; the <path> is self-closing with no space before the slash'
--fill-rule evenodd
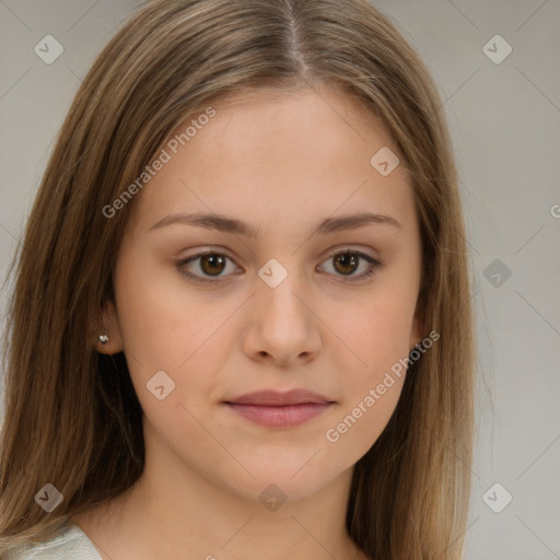
<path id="1" fill-rule="evenodd" d="M 257 406 L 228 402 L 228 406 L 247 420 L 272 428 L 289 428 L 307 422 L 331 407 L 331 402 L 303 402 L 287 406 Z"/>

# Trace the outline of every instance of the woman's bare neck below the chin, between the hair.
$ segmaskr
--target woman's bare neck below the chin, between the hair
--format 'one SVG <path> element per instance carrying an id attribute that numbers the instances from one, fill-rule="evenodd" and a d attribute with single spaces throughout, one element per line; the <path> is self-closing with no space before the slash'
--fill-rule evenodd
<path id="1" fill-rule="evenodd" d="M 129 490 L 72 520 L 112 560 L 365 559 L 346 530 L 351 468 L 280 504 L 277 487 L 257 501 L 186 468 L 168 450 L 147 448 L 145 457 Z"/>

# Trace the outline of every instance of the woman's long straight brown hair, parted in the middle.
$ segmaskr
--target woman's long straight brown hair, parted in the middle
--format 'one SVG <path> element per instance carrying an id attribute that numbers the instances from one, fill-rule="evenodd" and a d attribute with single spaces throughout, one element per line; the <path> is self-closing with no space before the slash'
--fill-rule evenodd
<path id="1" fill-rule="evenodd" d="M 424 332 L 441 336 L 410 365 L 386 429 L 355 465 L 347 528 L 371 558 L 460 557 L 474 340 L 456 168 L 427 68 L 365 0 L 155 0 L 94 62 L 60 130 L 18 255 L 0 550 L 49 538 L 69 516 L 128 489 L 143 468 L 141 408 L 125 357 L 98 354 L 90 329 L 113 296 L 135 200 L 110 218 L 102 209 L 210 100 L 319 83 L 359 100 L 398 145 L 421 226 L 418 308 Z M 63 495 L 50 513 L 34 500 L 46 483 Z"/>

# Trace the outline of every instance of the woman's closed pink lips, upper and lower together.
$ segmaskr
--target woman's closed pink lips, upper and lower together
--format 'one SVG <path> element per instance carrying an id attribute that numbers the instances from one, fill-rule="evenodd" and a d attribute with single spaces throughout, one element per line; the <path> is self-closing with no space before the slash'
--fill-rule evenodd
<path id="1" fill-rule="evenodd" d="M 287 393 L 259 390 L 225 401 L 235 412 L 261 425 L 289 428 L 307 422 L 334 404 L 323 395 L 304 389 Z"/>

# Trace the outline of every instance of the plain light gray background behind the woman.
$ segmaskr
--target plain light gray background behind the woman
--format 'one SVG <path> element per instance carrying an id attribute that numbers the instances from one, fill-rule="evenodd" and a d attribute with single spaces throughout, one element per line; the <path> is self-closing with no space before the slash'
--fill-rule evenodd
<path id="1" fill-rule="evenodd" d="M 81 77 L 137 4 L 0 0 L 2 279 Z M 374 4 L 428 63 L 460 175 L 479 341 L 466 558 L 560 558 L 560 1 Z M 34 52 L 47 34 L 51 65 Z"/>

